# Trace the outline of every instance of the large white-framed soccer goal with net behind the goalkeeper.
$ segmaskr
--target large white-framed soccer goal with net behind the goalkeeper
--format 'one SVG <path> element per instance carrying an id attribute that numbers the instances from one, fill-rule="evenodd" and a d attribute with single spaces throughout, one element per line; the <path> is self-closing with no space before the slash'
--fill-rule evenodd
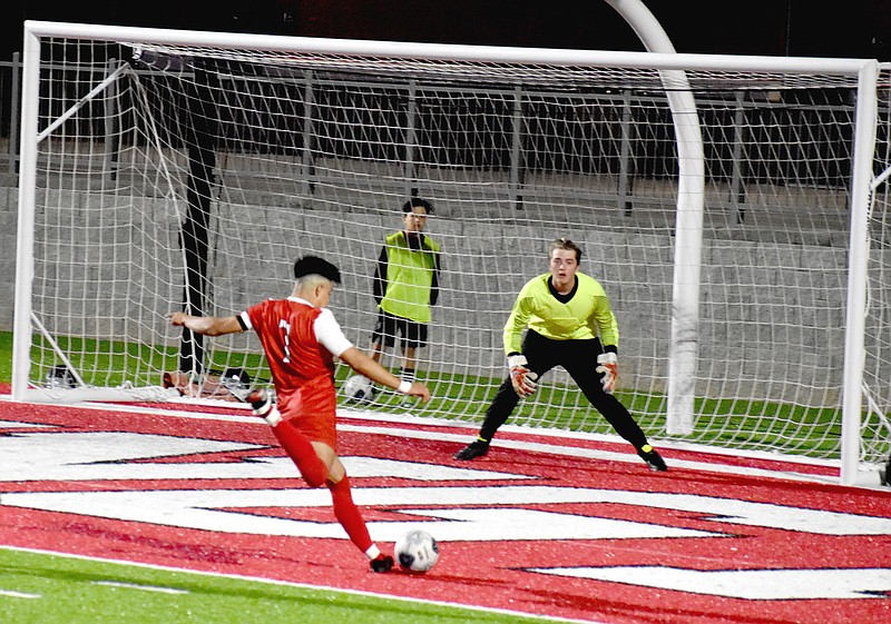
<path id="1" fill-rule="evenodd" d="M 828 462 L 843 483 L 891 452 L 875 61 L 27 22 L 25 67 L 17 398 L 237 400 L 268 384 L 255 337 L 165 315 L 286 296 L 305 254 L 340 266 L 331 308 L 368 348 L 381 245 L 422 197 L 442 274 L 419 351 L 434 399 L 412 414 L 480 420 L 513 298 L 568 237 L 650 438 Z M 560 370 L 511 422 L 610 433 Z"/>

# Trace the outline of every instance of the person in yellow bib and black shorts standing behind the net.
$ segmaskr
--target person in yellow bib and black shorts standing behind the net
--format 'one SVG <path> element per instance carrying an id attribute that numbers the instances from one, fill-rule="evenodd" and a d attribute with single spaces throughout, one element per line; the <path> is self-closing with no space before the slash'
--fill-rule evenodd
<path id="1" fill-rule="evenodd" d="M 427 346 L 430 308 L 439 298 L 440 246 L 423 232 L 432 211 L 420 197 L 402 206 L 403 228 L 386 237 L 373 279 L 378 319 L 371 357 L 380 361 L 383 348 L 394 347 L 399 336 L 402 359 L 396 376 L 409 383 L 417 378 L 417 350 Z"/>

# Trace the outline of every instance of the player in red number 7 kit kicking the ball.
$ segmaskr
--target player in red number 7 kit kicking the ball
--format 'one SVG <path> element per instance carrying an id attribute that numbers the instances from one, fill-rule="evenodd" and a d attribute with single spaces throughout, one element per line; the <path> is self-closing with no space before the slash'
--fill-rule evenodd
<path id="1" fill-rule="evenodd" d="M 272 426 L 273 433 L 311 487 L 331 491 L 334 515 L 353 544 L 371 561 L 374 572 L 388 572 L 393 558 L 381 553 L 369 535 L 365 521 L 353 503 L 350 479 L 336 454 L 336 392 L 334 358 L 356 373 L 402 394 L 430 400 L 420 382 L 402 382 L 350 343 L 327 306 L 337 267 L 315 256 L 294 263 L 294 290 L 286 299 L 267 299 L 237 316 L 200 317 L 184 313 L 169 315 L 172 325 L 205 336 L 222 336 L 253 329 L 260 337 L 272 372 L 276 402 L 264 389 L 254 390 L 248 402 L 254 414 Z"/>

